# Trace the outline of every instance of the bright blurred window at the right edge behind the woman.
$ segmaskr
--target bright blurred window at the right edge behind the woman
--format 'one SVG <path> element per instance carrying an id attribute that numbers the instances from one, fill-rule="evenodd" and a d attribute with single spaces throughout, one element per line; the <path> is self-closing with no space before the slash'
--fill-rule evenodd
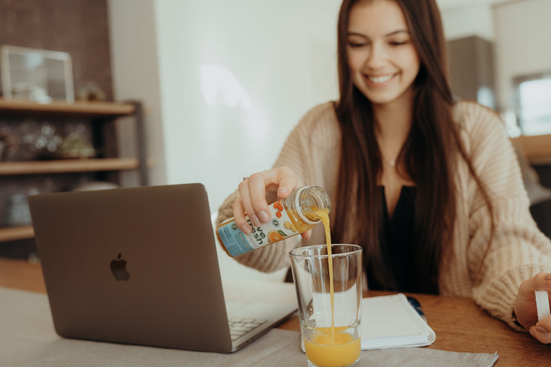
<path id="1" fill-rule="evenodd" d="M 523 135 L 551 134 L 551 74 L 514 78 Z"/>

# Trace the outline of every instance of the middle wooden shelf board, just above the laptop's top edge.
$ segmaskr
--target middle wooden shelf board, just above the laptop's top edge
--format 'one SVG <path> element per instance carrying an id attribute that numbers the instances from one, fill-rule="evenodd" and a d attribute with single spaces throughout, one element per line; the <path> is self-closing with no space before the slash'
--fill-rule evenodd
<path id="1" fill-rule="evenodd" d="M 138 169 L 136 158 L 99 158 L 0 162 L 0 176 Z"/>

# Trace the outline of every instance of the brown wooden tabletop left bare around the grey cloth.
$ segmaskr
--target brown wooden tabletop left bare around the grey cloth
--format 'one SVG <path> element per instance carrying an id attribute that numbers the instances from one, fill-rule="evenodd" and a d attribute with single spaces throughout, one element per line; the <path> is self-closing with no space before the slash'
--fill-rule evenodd
<path id="1" fill-rule="evenodd" d="M 0 258 L 0 286 L 45 293 L 40 264 Z M 388 294 L 366 292 L 364 297 Z M 495 353 L 496 367 L 551 366 L 551 345 L 543 345 L 527 333 L 517 333 L 488 315 L 470 298 L 414 295 L 422 305 L 436 341 L 426 347 L 467 353 Z M 279 326 L 299 331 L 298 317 Z"/>

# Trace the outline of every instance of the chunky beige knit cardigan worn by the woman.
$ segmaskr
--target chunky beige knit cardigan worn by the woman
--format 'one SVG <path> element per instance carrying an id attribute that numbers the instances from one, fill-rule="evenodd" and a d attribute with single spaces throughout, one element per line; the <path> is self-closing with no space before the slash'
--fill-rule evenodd
<path id="1" fill-rule="evenodd" d="M 530 216 L 517 157 L 497 114 L 477 103 L 461 101 L 453 109 L 453 118 L 459 125 L 472 165 L 489 191 L 495 236 L 481 265 L 488 244 L 490 216 L 467 165 L 458 160 L 453 249 L 445 254 L 439 291 L 441 295 L 472 297 L 512 328 L 523 330 L 514 324 L 512 306 L 523 280 L 539 271 L 551 272 L 551 242 Z M 333 104 L 318 105 L 293 129 L 273 167 L 291 168 L 302 184 L 323 187 L 331 200 L 335 200 L 340 144 Z M 236 196 L 234 192 L 222 204 L 217 224 L 232 216 L 231 204 Z M 295 236 L 236 260 L 271 272 L 289 266 L 291 249 L 324 243 L 320 224 L 314 227 L 308 241 Z"/>

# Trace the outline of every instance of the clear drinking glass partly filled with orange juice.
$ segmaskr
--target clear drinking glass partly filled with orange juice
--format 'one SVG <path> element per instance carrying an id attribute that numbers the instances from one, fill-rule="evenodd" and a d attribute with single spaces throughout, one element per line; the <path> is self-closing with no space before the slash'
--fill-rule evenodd
<path id="1" fill-rule="evenodd" d="M 360 359 L 362 248 L 333 244 L 331 253 L 331 262 L 326 245 L 300 247 L 289 253 L 309 366 L 352 366 Z"/>

